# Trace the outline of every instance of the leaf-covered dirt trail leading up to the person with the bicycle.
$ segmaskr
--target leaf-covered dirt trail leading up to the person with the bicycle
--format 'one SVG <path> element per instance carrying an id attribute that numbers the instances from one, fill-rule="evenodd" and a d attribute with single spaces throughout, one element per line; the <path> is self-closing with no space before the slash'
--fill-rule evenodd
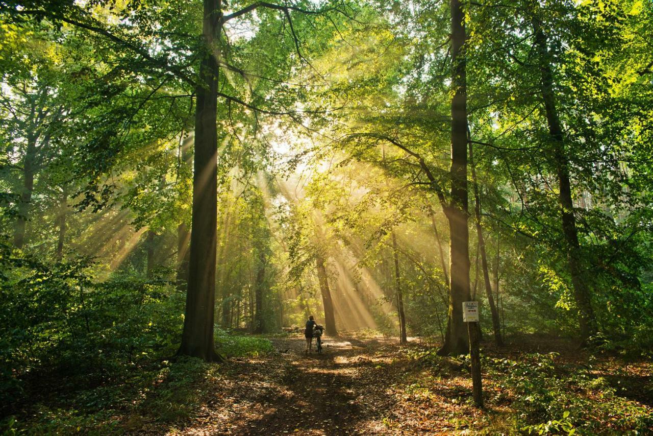
<path id="1" fill-rule="evenodd" d="M 308 356 L 303 338 L 271 341 L 272 356 L 221 365 L 199 416 L 168 434 L 397 433 L 383 424 L 393 405 L 386 391 L 400 372 L 391 368 L 396 339 L 325 337 L 323 354 Z"/>

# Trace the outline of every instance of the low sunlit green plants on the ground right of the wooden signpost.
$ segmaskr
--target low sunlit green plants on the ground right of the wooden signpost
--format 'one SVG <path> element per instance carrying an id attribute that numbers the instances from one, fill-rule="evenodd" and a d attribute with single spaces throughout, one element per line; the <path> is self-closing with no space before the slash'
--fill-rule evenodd
<path id="1" fill-rule="evenodd" d="M 484 359 L 487 377 L 513 393 L 517 426 L 528 433 L 642 432 L 653 426 L 653 414 L 616 395 L 592 365 L 571 367 L 556 354 L 524 354 L 519 360 Z M 609 428 L 606 426 L 609 423 Z"/>

